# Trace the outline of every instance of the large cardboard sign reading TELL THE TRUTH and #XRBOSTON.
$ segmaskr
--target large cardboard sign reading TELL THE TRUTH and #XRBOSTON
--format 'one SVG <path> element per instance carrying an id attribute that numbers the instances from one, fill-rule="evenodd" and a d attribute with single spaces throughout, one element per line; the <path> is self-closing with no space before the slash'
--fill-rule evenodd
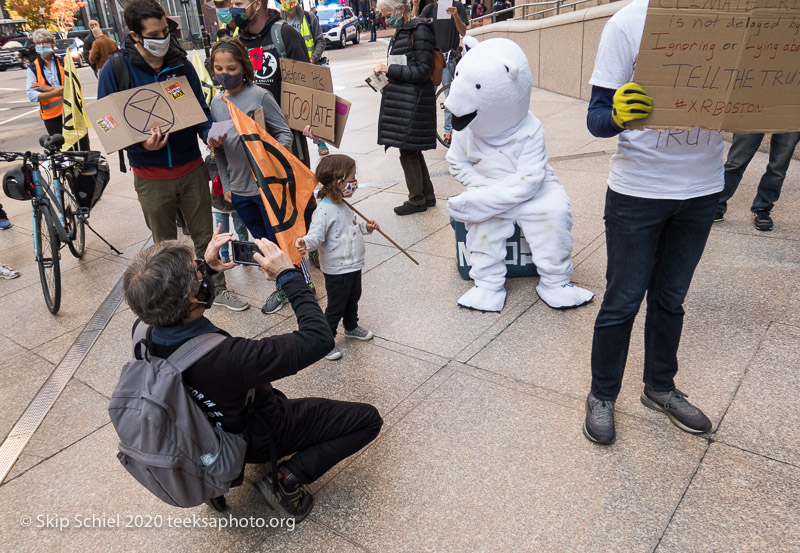
<path id="1" fill-rule="evenodd" d="M 800 2 L 651 2 L 634 80 L 654 109 L 629 127 L 800 130 Z"/>

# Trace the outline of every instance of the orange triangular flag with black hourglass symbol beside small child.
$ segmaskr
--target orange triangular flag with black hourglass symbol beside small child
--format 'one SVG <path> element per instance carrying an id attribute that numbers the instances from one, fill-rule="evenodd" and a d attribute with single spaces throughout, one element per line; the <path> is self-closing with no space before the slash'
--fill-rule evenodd
<path id="1" fill-rule="evenodd" d="M 302 256 L 294 243 L 306 235 L 303 214 L 314 193 L 317 177 L 246 113 L 224 96 L 223 99 L 228 103 L 278 246 L 292 263 L 300 265 Z"/>

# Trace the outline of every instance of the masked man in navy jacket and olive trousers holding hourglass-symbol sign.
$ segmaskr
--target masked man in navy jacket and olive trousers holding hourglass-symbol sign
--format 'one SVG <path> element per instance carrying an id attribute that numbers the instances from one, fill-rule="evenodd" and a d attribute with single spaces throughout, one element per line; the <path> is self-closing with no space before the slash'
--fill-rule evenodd
<path id="1" fill-rule="evenodd" d="M 125 24 L 130 30 L 121 45 L 127 70 L 127 82 L 120 82 L 114 63 L 100 72 L 97 97 L 103 98 L 125 88 L 183 76 L 189 81 L 197 102 L 206 113 L 206 121 L 193 127 L 161 134 L 156 128 L 150 138 L 125 148 L 133 170 L 133 185 L 142 206 L 147 228 L 153 240 L 175 240 L 175 215 L 180 208 L 194 242 L 195 253 L 202 258 L 212 236 L 210 178 L 197 138 L 204 142 L 211 128 L 211 112 L 203 99 L 202 87 L 192 64 L 171 33 L 177 25 L 169 21 L 164 8 L 155 0 L 132 0 L 125 7 Z M 127 86 L 125 86 L 127 85 Z M 227 290 L 222 273 L 214 276 L 214 304 L 233 311 L 244 311 L 249 304 Z"/>

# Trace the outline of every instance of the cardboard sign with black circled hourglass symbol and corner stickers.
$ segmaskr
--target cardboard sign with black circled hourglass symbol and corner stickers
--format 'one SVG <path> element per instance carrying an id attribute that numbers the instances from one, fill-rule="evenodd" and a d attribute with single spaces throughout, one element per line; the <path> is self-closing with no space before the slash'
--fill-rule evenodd
<path id="1" fill-rule="evenodd" d="M 206 121 L 186 77 L 116 92 L 86 106 L 106 153 Z"/>

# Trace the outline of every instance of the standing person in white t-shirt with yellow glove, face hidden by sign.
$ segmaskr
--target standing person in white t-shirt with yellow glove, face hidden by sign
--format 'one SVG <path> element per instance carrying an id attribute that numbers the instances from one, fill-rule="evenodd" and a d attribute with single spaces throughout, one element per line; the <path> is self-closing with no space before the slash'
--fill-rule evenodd
<path id="1" fill-rule="evenodd" d="M 631 330 L 647 295 L 642 403 L 681 430 L 711 430 L 711 421 L 675 387 L 683 302 L 705 248 L 723 187 L 722 136 L 632 130 L 653 109 L 631 82 L 648 0 L 633 0 L 606 23 L 600 39 L 587 123 L 598 137 L 617 136 L 606 192 L 606 292 L 592 342 L 591 391 L 584 435 L 616 438 L 614 403 L 622 386 Z M 700 31 L 698 31 L 699 33 Z"/>

